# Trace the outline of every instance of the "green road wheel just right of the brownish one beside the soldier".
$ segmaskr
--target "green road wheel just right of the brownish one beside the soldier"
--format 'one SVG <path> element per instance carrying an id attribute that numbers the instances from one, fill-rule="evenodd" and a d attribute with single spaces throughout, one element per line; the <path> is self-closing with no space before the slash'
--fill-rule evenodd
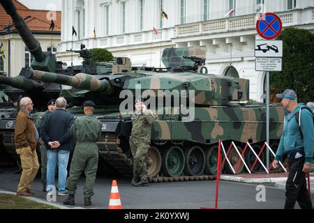
<path id="1" fill-rule="evenodd" d="M 182 174 L 184 170 L 184 152 L 179 146 L 165 148 L 162 168 L 167 176 L 180 176 Z"/>

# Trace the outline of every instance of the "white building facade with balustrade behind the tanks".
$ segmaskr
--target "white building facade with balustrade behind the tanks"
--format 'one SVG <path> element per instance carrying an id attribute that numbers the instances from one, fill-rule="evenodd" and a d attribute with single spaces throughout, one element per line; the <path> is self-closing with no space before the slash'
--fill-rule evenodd
<path id="1" fill-rule="evenodd" d="M 314 31 L 314 0 L 64 0 L 57 59 L 70 64 L 66 49 L 84 43 L 127 56 L 133 66 L 159 67 L 166 47 L 202 46 L 210 73 L 249 79 L 250 98 L 262 101 L 265 74 L 255 71 L 254 57 L 260 12 L 276 13 L 283 28 Z"/>

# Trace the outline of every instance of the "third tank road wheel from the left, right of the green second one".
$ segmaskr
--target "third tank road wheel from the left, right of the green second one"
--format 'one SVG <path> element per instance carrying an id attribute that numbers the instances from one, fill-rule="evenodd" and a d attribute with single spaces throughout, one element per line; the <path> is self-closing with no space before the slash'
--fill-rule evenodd
<path id="1" fill-rule="evenodd" d="M 200 146 L 192 146 L 184 151 L 186 162 L 184 171 L 189 176 L 201 175 L 205 168 L 205 155 Z"/>

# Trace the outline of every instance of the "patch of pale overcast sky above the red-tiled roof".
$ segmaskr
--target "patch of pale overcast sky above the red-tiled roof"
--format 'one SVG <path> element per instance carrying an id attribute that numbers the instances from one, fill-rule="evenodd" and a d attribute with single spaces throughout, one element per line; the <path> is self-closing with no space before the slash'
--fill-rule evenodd
<path id="1" fill-rule="evenodd" d="M 55 8 L 55 10 L 61 11 L 62 0 L 17 0 L 20 1 L 24 6 L 27 6 L 31 9 L 43 9 L 43 10 L 51 10 Z"/>

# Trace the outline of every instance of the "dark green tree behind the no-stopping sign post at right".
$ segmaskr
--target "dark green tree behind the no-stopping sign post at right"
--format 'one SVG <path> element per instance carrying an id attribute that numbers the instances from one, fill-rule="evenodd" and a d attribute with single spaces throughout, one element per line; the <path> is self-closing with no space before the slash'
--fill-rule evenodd
<path id="1" fill-rule="evenodd" d="M 299 102 L 314 101 L 314 34 L 288 28 L 278 40 L 283 40 L 283 70 L 271 72 L 271 87 L 280 93 L 294 89 Z"/>

